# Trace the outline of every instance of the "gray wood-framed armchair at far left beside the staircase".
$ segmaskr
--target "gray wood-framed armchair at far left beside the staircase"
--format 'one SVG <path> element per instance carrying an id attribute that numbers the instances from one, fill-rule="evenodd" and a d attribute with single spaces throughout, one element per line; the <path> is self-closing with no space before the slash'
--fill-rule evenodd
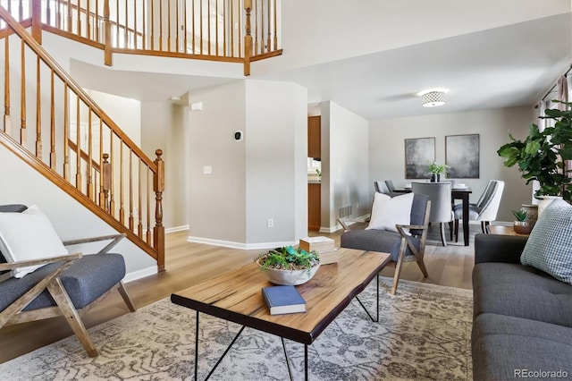
<path id="1" fill-rule="evenodd" d="M 26 208 L 24 205 L 0 206 L 0 212 L 20 213 Z M 121 254 L 107 252 L 123 237 L 123 234 L 114 234 L 63 242 L 64 246 L 70 246 L 111 241 L 97 254 L 86 256 L 75 253 L 6 263 L 0 253 L 0 328 L 63 315 L 88 355 L 97 356 L 97 349 L 80 318 L 82 309 L 103 299 L 116 286 L 130 311 L 135 311 L 122 284 L 124 259 Z M 32 265 L 42 267 L 21 278 L 10 273 L 15 268 Z"/>

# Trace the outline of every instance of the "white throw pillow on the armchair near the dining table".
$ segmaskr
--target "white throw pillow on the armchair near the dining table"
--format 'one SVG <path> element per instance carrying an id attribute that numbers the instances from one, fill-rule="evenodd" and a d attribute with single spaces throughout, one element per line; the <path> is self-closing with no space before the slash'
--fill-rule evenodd
<path id="1" fill-rule="evenodd" d="M 410 224 L 413 196 L 413 193 L 407 193 L 391 198 L 375 192 L 372 216 L 366 229 L 397 232 L 396 224 Z"/>

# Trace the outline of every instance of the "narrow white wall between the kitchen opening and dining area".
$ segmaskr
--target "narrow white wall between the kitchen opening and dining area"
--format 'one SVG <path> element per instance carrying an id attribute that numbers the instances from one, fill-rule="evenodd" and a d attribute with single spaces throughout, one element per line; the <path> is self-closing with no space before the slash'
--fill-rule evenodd
<path id="1" fill-rule="evenodd" d="M 369 123 L 361 116 L 324 102 L 322 117 L 322 193 L 320 230 L 338 229 L 341 207 L 351 206 L 353 216 L 369 213 Z"/>

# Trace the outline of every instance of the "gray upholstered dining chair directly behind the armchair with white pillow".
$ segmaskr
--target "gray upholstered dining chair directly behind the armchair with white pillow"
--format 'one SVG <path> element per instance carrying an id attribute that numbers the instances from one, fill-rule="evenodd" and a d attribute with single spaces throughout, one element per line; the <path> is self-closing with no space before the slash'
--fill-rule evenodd
<path id="1" fill-rule="evenodd" d="M 445 240 L 445 225 L 449 223 L 449 232 L 453 235 L 453 211 L 451 209 L 450 182 L 412 182 L 411 190 L 416 194 L 426 194 L 431 200 L 430 223 L 439 223 L 441 241 L 447 246 Z"/>

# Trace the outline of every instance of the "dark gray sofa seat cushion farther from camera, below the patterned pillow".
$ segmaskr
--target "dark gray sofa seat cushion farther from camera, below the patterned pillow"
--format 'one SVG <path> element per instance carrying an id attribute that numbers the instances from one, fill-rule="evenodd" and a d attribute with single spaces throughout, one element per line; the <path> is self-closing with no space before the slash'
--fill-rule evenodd
<path id="1" fill-rule="evenodd" d="M 492 312 L 572 327 L 572 287 L 534 267 L 477 264 L 473 290 L 475 317 Z"/>

